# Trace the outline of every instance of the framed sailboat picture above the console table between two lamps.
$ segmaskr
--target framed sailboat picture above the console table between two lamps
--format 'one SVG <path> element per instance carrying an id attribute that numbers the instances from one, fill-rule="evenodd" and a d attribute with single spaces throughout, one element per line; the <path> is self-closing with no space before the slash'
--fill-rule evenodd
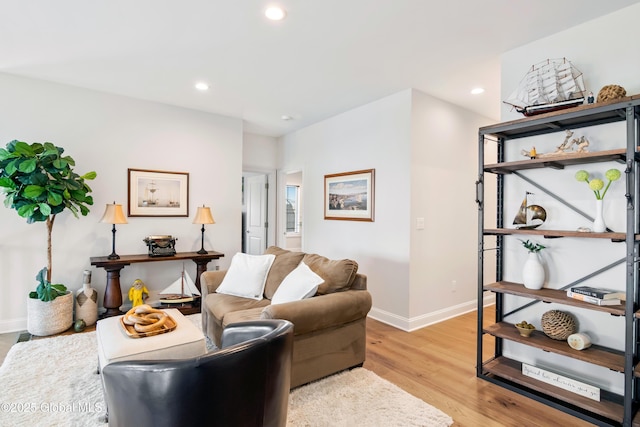
<path id="1" fill-rule="evenodd" d="M 189 173 L 127 169 L 128 216 L 189 216 Z"/>

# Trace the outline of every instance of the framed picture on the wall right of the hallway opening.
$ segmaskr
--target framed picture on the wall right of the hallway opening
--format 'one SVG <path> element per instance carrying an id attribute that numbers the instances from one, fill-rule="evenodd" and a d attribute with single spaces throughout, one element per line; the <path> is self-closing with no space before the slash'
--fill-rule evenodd
<path id="1" fill-rule="evenodd" d="M 324 176 L 324 219 L 374 221 L 375 169 Z"/>

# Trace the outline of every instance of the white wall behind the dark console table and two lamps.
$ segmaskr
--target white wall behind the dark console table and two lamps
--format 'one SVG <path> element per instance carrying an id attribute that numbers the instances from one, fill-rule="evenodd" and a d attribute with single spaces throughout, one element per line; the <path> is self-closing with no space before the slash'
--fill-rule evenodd
<path id="1" fill-rule="evenodd" d="M 54 281 L 79 289 L 89 258 L 111 253 L 111 226 L 98 221 L 105 204 L 114 200 L 126 210 L 127 168 L 189 172 L 189 217 L 128 218 L 128 224 L 117 226 L 119 254 L 146 253 L 142 239 L 149 234 L 177 237 L 178 251 L 199 249 L 200 227 L 192 220 L 202 203 L 212 207 L 216 220 L 206 228 L 205 248 L 227 255 L 217 262 L 221 268 L 240 250 L 241 120 L 5 74 L 0 74 L 0 93 L 3 146 L 13 139 L 50 141 L 76 160 L 77 172 L 98 174 L 89 183 L 95 202 L 90 214 L 77 220 L 64 212 L 56 218 Z M 0 332 L 25 329 L 27 294 L 46 265 L 44 223 L 27 224 L 14 210 L 0 208 L 0 254 Z M 193 277 L 195 264 L 185 267 Z M 181 268 L 175 262 L 126 267 L 122 290 L 136 278 L 162 289 Z M 106 274 L 92 270 L 102 302 Z"/>

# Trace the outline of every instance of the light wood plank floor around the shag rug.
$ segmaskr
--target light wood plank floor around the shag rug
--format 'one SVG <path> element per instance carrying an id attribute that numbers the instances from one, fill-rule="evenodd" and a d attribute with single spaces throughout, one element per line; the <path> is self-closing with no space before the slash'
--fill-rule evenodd
<path id="1" fill-rule="evenodd" d="M 476 378 L 475 331 L 475 312 L 414 332 L 368 319 L 364 367 L 446 412 L 456 427 L 591 425 Z M 0 361 L 18 336 L 0 334 Z"/>

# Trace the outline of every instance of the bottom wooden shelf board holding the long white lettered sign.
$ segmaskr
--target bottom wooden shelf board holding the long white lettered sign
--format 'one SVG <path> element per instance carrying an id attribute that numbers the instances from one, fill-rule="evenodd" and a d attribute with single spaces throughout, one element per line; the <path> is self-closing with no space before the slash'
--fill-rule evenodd
<path id="1" fill-rule="evenodd" d="M 488 373 L 497 375 L 521 386 L 525 386 L 531 390 L 544 393 L 594 414 L 599 414 L 611 420 L 615 420 L 618 423 L 622 423 L 624 417 L 623 406 L 612 400 L 607 400 L 606 397 L 609 397 L 608 395 L 612 395 L 611 397 L 619 399 L 620 401 L 622 401 L 622 398 L 617 395 L 613 395 L 612 393 L 601 392 L 600 402 L 588 399 L 578 394 L 571 393 L 570 391 L 566 391 L 559 387 L 555 387 L 523 375 L 522 363 L 506 357 L 498 357 L 485 363 L 483 365 L 483 369 Z"/>

